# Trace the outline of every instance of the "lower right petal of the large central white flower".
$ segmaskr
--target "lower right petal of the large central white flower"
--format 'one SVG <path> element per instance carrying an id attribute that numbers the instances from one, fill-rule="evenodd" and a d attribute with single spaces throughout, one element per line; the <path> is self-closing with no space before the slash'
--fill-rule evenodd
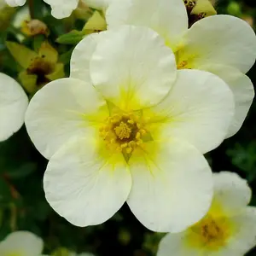
<path id="1" fill-rule="evenodd" d="M 143 152 L 129 160 L 127 203 L 138 220 L 157 232 L 179 232 L 199 221 L 212 201 L 212 172 L 203 155 L 176 139 L 147 143 Z"/>

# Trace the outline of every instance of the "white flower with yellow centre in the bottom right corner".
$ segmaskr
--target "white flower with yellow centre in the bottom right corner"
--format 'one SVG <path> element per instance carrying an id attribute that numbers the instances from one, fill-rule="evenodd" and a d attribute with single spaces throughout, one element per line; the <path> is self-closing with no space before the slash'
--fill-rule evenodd
<path id="1" fill-rule="evenodd" d="M 256 245 L 251 189 L 236 173 L 213 174 L 212 207 L 200 222 L 160 241 L 158 256 L 241 256 Z"/>

